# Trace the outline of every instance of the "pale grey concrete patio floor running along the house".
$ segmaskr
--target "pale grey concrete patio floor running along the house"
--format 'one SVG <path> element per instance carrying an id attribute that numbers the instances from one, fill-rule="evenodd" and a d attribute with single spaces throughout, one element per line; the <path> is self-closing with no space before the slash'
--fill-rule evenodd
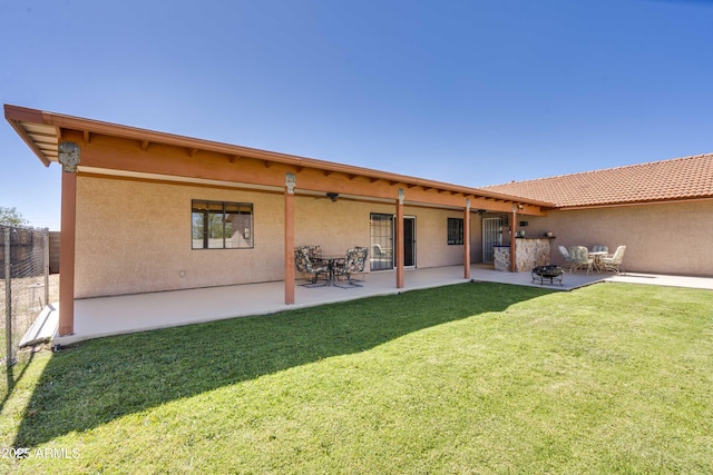
<path id="1" fill-rule="evenodd" d="M 45 315 L 38 318 L 43 323 L 43 328 L 35 331 L 37 335 L 51 336 L 52 345 L 65 346 L 104 336 L 251 315 L 267 315 L 294 308 L 469 281 L 463 278 L 462 273 L 461 266 L 407 270 L 404 288 L 401 289 L 395 288 L 393 271 L 367 274 L 363 287 L 304 287 L 296 285 L 295 304 L 293 305 L 284 304 L 282 281 L 77 299 L 75 301 L 74 335 L 61 337 L 57 335 L 58 304 L 46 308 Z M 535 286 L 553 290 L 572 290 L 598 281 L 713 289 L 713 278 L 643 274 L 625 276 L 566 274 L 563 285 L 545 284 L 540 286 L 539 283 L 533 283 L 530 273 L 502 273 L 486 265 L 473 265 L 470 280 Z"/>

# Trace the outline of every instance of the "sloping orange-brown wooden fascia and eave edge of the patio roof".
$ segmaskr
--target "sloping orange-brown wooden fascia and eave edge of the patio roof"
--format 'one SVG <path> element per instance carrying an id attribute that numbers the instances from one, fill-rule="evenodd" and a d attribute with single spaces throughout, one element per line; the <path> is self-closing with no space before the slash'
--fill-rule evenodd
<path id="1" fill-rule="evenodd" d="M 80 132 L 86 142 L 91 140 L 92 135 L 102 135 L 129 140 L 136 140 L 140 147 L 146 150 L 152 144 L 160 144 L 166 146 L 185 148 L 191 157 L 198 151 L 209 151 L 223 154 L 229 160 L 241 158 L 252 158 L 263 160 L 267 164 L 283 164 L 294 167 L 300 171 L 311 168 L 322 171 L 325 176 L 331 174 L 343 174 L 350 177 L 364 177 L 372 182 L 385 181 L 390 185 L 403 185 L 404 188 L 421 188 L 423 190 L 436 190 L 438 194 L 460 195 L 462 201 L 467 198 L 492 200 L 494 202 L 502 202 L 508 206 L 511 204 L 521 208 L 521 214 L 543 215 L 543 209 L 555 208 L 551 202 L 533 200 L 521 197 L 514 197 L 500 192 L 486 191 L 478 188 L 469 188 L 465 186 L 445 184 L 441 181 L 428 180 L 404 175 L 391 174 L 363 167 L 354 167 L 313 158 L 280 154 L 274 151 L 261 150 L 243 146 L 228 145 L 211 140 L 191 138 L 167 132 L 158 132 L 147 129 L 140 129 L 117 123 L 104 122 L 94 119 L 86 119 L 61 113 L 29 109 L 19 106 L 4 105 L 6 119 L 10 122 L 18 135 L 26 141 L 30 149 L 37 155 L 40 161 L 48 167 L 52 161 L 57 161 L 56 146 L 53 149 L 48 148 L 48 133 L 53 133 L 52 140 L 58 145 L 62 138 L 70 131 Z M 43 144 L 38 144 L 38 135 L 32 133 L 29 127 L 45 126 L 42 135 Z M 459 197 L 460 198 L 460 197 Z M 459 199 L 460 200 L 460 199 Z M 443 205 L 442 199 L 436 199 L 434 204 Z M 452 200 L 449 200 L 452 201 Z M 430 201 L 426 201 L 430 202 Z"/>

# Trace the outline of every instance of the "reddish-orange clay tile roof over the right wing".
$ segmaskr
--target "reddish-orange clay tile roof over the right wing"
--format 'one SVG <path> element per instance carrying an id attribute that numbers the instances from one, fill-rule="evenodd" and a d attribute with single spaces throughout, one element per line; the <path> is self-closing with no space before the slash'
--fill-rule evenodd
<path id="1" fill-rule="evenodd" d="M 713 154 L 484 187 L 557 208 L 713 198 Z"/>

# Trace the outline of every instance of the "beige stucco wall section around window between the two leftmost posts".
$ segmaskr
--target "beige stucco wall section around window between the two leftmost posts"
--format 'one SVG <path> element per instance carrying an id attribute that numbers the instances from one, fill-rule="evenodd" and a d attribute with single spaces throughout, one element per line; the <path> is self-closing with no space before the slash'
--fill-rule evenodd
<path id="1" fill-rule="evenodd" d="M 192 199 L 254 202 L 254 249 L 192 249 Z M 279 195 L 79 177 L 75 295 L 275 279 L 282 215 Z"/>

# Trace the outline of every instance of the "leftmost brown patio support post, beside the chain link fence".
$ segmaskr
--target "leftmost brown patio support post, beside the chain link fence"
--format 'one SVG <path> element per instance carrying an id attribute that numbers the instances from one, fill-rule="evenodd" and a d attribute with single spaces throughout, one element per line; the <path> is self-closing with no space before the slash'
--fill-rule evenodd
<path id="1" fill-rule="evenodd" d="M 59 245 L 59 335 L 75 333 L 75 236 L 77 228 L 77 165 L 79 146 L 59 145 L 62 166 L 61 239 Z"/>

